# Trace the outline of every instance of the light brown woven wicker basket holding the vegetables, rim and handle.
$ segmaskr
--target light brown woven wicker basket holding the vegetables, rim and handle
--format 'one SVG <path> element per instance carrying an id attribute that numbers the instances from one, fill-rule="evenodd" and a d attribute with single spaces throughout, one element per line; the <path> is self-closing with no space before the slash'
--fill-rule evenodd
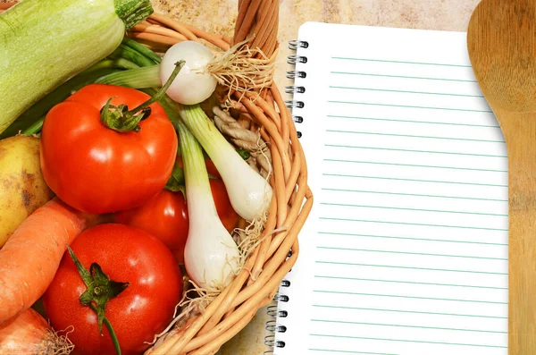
<path id="1" fill-rule="evenodd" d="M 156 52 L 187 39 L 227 50 L 251 38 L 249 46 L 258 47 L 274 61 L 279 47 L 279 3 L 279 0 L 239 0 L 233 38 L 207 33 L 156 13 L 127 35 Z M 6 8 L 5 4 L 0 5 L 0 11 L 1 8 Z M 233 95 L 239 98 L 238 93 Z M 307 186 L 306 158 L 294 121 L 273 82 L 261 97 L 247 94 L 240 97 L 240 104 L 242 112 L 248 113 L 247 117 L 269 144 L 272 154 L 270 182 L 274 193 L 264 224 L 264 239 L 247 258 L 244 269 L 201 315 L 189 319 L 180 332 L 147 354 L 216 353 L 224 342 L 249 323 L 258 309 L 272 301 L 281 280 L 296 262 L 297 234 L 309 215 L 313 195 Z"/>

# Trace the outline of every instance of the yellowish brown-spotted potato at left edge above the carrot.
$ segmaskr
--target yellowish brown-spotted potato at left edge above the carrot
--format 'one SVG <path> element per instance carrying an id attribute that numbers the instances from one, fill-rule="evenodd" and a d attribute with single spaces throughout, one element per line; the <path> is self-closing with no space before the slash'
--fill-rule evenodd
<path id="1" fill-rule="evenodd" d="M 0 140 L 0 248 L 38 207 L 54 197 L 39 163 L 39 139 Z"/>

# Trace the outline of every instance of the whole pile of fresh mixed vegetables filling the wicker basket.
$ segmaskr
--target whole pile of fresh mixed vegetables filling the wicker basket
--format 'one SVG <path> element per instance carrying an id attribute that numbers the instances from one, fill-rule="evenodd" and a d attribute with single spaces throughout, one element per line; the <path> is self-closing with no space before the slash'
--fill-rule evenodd
<path id="1" fill-rule="evenodd" d="M 260 242 L 269 152 L 252 160 L 214 115 L 272 67 L 245 65 L 240 45 L 158 55 L 124 36 L 152 12 L 22 0 L 0 13 L 0 354 L 150 353 Z"/>

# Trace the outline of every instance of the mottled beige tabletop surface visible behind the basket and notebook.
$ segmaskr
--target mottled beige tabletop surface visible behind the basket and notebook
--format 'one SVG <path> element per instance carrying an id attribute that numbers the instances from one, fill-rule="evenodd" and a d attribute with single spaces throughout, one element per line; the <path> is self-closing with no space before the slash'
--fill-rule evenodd
<path id="1" fill-rule="evenodd" d="M 155 11 L 186 21 L 207 31 L 232 36 L 238 0 L 151 0 Z M 281 44 L 275 80 L 282 90 L 291 82 L 287 41 L 296 38 L 306 21 L 402 27 L 426 30 L 465 31 L 479 0 L 281 0 L 279 41 Z M 348 43 L 350 45 L 351 42 Z M 222 355 L 261 355 L 264 322 L 261 309 L 240 334 L 222 348 Z"/>

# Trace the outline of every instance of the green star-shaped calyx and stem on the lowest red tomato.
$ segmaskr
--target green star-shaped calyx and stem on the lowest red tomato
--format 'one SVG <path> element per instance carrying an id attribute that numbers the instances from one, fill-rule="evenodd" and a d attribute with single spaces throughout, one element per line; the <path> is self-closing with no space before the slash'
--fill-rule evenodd
<path id="1" fill-rule="evenodd" d="M 71 255 L 72 261 L 74 262 L 80 277 L 88 288 L 80 295 L 80 303 L 93 309 L 96 313 L 98 332 L 100 334 L 103 334 L 103 323 L 105 324 L 108 332 L 110 332 L 115 351 L 118 355 L 121 355 L 119 341 L 113 331 L 112 324 L 108 318 L 105 317 L 105 309 L 106 303 L 126 290 L 127 287 L 130 286 L 130 283 L 121 283 L 110 280 L 108 275 L 105 274 L 101 266 L 97 263 L 92 263 L 91 266 L 89 266 L 88 271 L 82 263 L 80 263 L 80 260 L 76 257 L 69 245 L 67 245 L 67 249 L 69 250 L 69 254 Z"/>

